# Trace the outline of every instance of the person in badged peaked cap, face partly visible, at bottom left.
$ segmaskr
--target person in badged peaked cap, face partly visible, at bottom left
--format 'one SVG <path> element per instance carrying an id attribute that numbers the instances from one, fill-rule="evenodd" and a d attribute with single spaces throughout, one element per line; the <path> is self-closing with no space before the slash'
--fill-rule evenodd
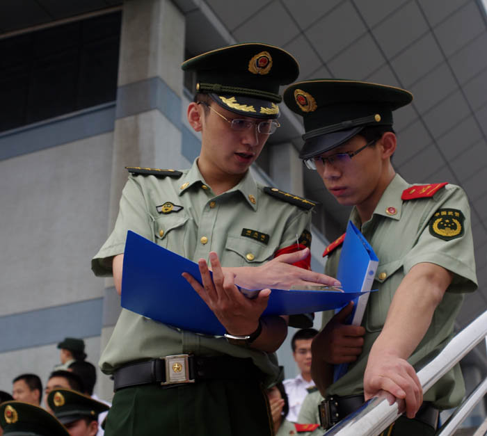
<path id="1" fill-rule="evenodd" d="M 98 415 L 110 408 L 71 389 L 54 389 L 49 392 L 47 403 L 71 436 L 95 436 L 98 432 Z"/>

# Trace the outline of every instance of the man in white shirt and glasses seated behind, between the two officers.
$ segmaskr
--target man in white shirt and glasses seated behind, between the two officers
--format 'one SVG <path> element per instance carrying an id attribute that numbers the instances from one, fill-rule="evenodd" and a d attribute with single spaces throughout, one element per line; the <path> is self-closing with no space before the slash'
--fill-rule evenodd
<path id="1" fill-rule="evenodd" d="M 289 398 L 288 421 L 298 420 L 299 410 L 305 396 L 308 395 L 308 389 L 314 387 L 311 378 L 311 342 L 317 333 L 314 328 L 303 328 L 292 337 L 292 353 L 300 373 L 296 378 L 288 378 L 283 382 Z"/>

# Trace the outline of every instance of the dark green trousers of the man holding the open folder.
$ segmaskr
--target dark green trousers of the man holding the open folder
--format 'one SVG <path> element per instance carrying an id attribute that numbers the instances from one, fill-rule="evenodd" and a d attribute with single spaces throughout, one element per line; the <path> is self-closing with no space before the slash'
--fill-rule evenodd
<path id="1" fill-rule="evenodd" d="M 105 436 L 271 436 L 269 402 L 260 382 L 209 380 L 169 389 L 120 389 Z"/>

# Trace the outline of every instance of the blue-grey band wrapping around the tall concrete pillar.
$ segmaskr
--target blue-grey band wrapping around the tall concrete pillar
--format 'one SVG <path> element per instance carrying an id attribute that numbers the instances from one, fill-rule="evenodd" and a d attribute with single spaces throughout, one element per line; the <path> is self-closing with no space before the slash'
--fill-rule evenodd
<path id="1" fill-rule="evenodd" d="M 181 98 L 160 77 L 120 86 L 117 90 L 116 118 L 158 109 L 181 129 Z"/>

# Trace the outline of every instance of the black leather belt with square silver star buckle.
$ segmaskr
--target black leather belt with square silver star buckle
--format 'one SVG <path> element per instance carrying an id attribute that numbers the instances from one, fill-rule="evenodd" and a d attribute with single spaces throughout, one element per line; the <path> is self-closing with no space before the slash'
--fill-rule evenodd
<path id="1" fill-rule="evenodd" d="M 170 355 L 122 366 L 113 374 L 113 389 L 157 384 L 171 387 L 197 380 L 262 380 L 252 359 L 231 356 Z"/>

